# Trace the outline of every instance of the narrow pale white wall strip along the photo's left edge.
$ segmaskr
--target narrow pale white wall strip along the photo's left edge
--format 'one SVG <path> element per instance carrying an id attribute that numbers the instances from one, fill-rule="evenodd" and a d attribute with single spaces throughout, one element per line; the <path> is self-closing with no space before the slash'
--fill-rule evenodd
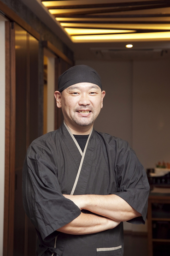
<path id="1" fill-rule="evenodd" d="M 0 18 L 0 255 L 3 253 L 5 181 L 5 22 Z"/>

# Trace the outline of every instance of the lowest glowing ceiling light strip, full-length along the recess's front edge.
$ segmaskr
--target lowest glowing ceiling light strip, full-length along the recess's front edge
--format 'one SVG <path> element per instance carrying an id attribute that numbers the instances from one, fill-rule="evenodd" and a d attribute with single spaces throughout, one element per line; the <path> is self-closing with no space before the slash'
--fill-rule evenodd
<path id="1" fill-rule="evenodd" d="M 170 39 L 170 32 L 134 33 L 118 35 L 71 36 L 73 42 L 114 41 L 114 40 L 155 40 Z"/>

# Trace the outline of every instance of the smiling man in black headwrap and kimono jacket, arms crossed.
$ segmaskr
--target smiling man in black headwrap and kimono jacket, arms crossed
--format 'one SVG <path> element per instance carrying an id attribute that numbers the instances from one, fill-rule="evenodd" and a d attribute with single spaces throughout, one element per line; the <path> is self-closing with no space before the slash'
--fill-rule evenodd
<path id="1" fill-rule="evenodd" d="M 94 69 L 71 67 L 54 95 L 64 124 L 31 143 L 23 167 L 37 255 L 123 256 L 123 221 L 146 220 L 146 172 L 127 142 L 94 131 L 105 96 Z"/>

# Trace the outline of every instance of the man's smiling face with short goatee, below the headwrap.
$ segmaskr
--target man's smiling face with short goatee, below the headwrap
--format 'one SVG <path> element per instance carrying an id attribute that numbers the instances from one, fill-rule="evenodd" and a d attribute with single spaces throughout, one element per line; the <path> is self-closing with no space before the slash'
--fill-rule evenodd
<path id="1" fill-rule="evenodd" d="M 58 107 L 62 108 L 65 123 L 74 128 L 93 125 L 103 107 L 105 91 L 93 83 L 76 83 L 60 94 Z"/>

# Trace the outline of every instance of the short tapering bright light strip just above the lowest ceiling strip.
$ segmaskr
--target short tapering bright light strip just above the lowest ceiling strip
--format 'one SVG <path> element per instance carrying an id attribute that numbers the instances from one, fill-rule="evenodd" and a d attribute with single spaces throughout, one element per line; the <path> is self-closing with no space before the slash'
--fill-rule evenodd
<path id="1" fill-rule="evenodd" d="M 85 34 L 116 34 L 116 33 L 135 33 L 136 30 L 101 30 L 101 29 L 73 29 L 65 28 L 69 35 L 85 35 Z"/>

